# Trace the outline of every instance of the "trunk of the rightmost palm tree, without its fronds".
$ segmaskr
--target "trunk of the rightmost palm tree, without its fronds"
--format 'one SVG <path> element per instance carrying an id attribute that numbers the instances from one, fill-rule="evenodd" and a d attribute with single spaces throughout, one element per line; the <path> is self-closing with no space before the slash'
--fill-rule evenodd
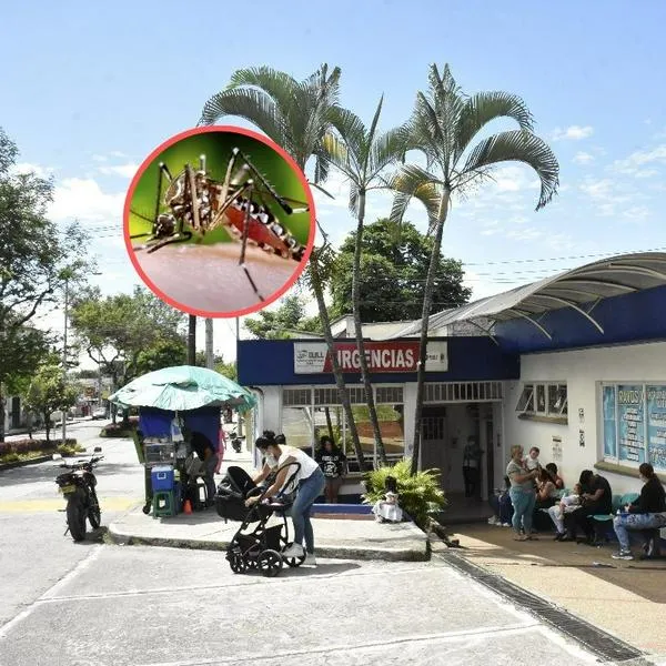
<path id="1" fill-rule="evenodd" d="M 416 410 L 414 412 L 414 445 L 412 448 L 412 468 L 411 475 L 414 476 L 418 471 L 418 458 L 421 457 L 421 423 L 423 414 L 423 393 L 425 389 L 425 360 L 427 351 L 427 327 L 431 307 L 433 305 L 433 287 L 435 275 L 440 264 L 440 252 L 442 250 L 442 234 L 444 223 L 448 212 L 448 201 L 451 192 L 445 189 L 442 193 L 440 210 L 437 211 L 437 223 L 435 226 L 435 240 L 431 253 L 430 265 L 427 268 L 427 278 L 425 280 L 425 290 L 423 293 L 423 311 L 421 313 L 421 340 L 418 341 L 418 371 L 416 375 Z"/>

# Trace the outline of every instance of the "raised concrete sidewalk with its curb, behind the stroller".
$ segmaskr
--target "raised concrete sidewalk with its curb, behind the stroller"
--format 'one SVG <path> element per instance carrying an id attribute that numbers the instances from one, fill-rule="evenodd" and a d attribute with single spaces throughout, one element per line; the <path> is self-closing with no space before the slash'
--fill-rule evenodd
<path id="1" fill-rule="evenodd" d="M 426 535 L 412 523 L 380 524 L 373 519 L 313 518 L 317 556 L 342 559 L 425 561 L 430 557 Z M 287 518 L 292 533 L 291 519 Z M 225 523 L 214 508 L 153 518 L 140 506 L 109 525 L 117 544 L 141 544 L 223 551 L 240 523 Z"/>

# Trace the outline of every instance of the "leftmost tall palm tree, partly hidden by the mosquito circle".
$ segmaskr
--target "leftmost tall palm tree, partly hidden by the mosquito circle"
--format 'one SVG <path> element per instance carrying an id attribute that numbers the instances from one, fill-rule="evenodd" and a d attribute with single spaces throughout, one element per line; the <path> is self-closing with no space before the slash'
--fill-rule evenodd
<path id="1" fill-rule="evenodd" d="M 327 64 L 322 64 L 304 81 L 296 81 L 290 74 L 268 67 L 238 70 L 231 77 L 231 83 L 205 103 L 199 124 L 214 124 L 225 115 L 250 121 L 281 145 L 302 171 L 305 171 L 310 159 L 314 158 L 312 184 L 324 191 L 319 184 L 325 180 L 329 170 L 324 137 L 331 130 L 333 109 L 337 108 L 340 75 L 341 70 L 337 67 L 329 73 Z M 321 226 L 320 231 L 323 233 Z M 322 270 L 325 270 L 325 266 L 320 262 L 322 258 L 329 256 L 331 251 L 324 234 L 323 248 L 313 251 L 310 259 L 309 282 L 319 305 L 337 393 L 347 417 L 359 466 L 363 472 L 365 458 L 342 369 L 335 354 L 335 341 L 324 300 Z"/>

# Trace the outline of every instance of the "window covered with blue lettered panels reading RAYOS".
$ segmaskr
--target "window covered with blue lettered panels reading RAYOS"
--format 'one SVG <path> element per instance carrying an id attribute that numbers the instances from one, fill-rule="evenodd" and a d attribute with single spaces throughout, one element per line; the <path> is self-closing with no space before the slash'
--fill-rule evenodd
<path id="1" fill-rule="evenodd" d="M 666 384 L 602 384 L 604 460 L 666 471 Z"/>

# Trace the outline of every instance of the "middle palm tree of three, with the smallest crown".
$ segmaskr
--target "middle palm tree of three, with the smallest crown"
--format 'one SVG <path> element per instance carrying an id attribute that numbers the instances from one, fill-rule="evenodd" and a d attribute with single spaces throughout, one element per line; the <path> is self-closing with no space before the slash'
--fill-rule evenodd
<path id="1" fill-rule="evenodd" d="M 370 421 L 381 462 L 386 464 L 386 452 L 382 441 L 382 431 L 377 418 L 365 343 L 363 341 L 363 323 L 361 321 L 361 252 L 363 248 L 363 223 L 365 221 L 365 200 L 371 190 L 385 189 L 386 168 L 404 155 L 405 132 L 403 128 L 377 134 L 377 124 L 382 113 L 384 97 L 380 99 L 370 129 L 352 111 L 334 109 L 333 127 L 340 139 L 333 134 L 324 138 L 324 147 L 330 154 L 331 163 L 350 181 L 350 210 L 356 216 L 356 239 L 354 245 L 354 264 L 352 272 L 352 305 L 354 331 L 361 376 L 365 387 L 365 400 L 370 412 Z"/>

